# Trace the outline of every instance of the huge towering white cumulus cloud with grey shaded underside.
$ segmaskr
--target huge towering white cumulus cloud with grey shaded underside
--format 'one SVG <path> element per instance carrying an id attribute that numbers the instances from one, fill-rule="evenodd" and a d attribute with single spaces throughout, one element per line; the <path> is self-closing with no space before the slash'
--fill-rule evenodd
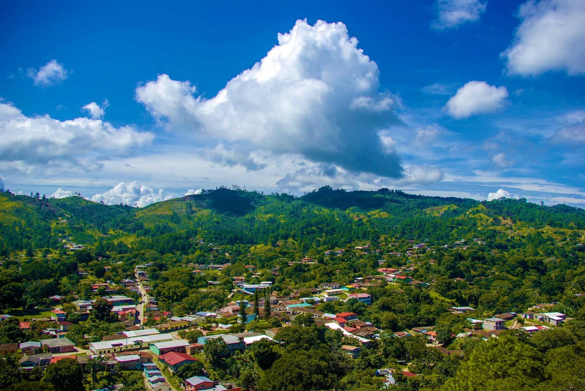
<path id="1" fill-rule="evenodd" d="M 239 150 L 251 169 L 259 167 L 249 152 L 260 150 L 400 178 L 400 158 L 378 136 L 400 123 L 400 101 L 379 91 L 378 75 L 343 23 L 297 20 L 266 57 L 211 99 L 166 74 L 137 88 L 136 99 L 168 130 Z"/>

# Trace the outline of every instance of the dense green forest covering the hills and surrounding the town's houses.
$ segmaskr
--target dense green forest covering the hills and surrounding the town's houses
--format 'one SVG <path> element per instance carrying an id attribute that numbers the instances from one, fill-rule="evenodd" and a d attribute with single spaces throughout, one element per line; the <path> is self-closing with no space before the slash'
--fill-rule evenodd
<path id="1" fill-rule="evenodd" d="M 374 283 L 356 292 L 370 295 L 369 305 L 346 296 L 312 302 L 318 312 L 355 313 L 377 328 L 376 345 L 362 347 L 359 357 L 342 351 L 342 345 L 357 344 L 352 337 L 311 316 L 280 321 L 264 316 L 245 326 L 233 317 L 226 320 L 235 324 L 232 330 L 290 326 L 276 334 L 283 343 L 263 340 L 231 357 L 208 353 L 209 345 L 198 356 L 204 369 L 195 372 L 259 391 L 582 390 L 584 244 L 585 210 L 525 199 L 478 202 L 330 186 L 297 197 L 233 186 L 137 208 L 80 196 L 2 192 L 0 307 L 29 321 L 29 312 L 51 306 L 53 295 L 63 296 L 61 305 L 73 323 L 67 338 L 87 347 L 124 327 L 93 314 L 82 321 L 70 303 L 104 296 L 104 288 L 92 289 L 96 283 L 109 284 L 109 294 L 138 300 L 125 286 L 136 265 L 149 264 L 144 270 L 151 294 L 161 311 L 175 316 L 215 311 L 245 298 L 235 289 L 236 276 L 249 284 L 269 281 L 279 297 L 311 296 L 322 283 L 347 285 L 366 278 Z M 84 248 L 74 250 L 74 245 Z M 390 281 L 380 268 L 402 271 L 415 285 Z M 566 314 L 566 320 L 525 332 L 519 315 L 543 303 L 549 312 Z M 473 333 L 460 338 L 473 325 L 469 314 L 453 313 L 454 306 L 473 307 L 475 319 L 507 313 L 514 319 L 497 338 Z M 149 316 L 148 322 L 156 326 L 161 320 Z M 47 327 L 15 325 L 0 323 L 0 342 L 39 341 Z M 435 327 L 443 350 L 412 332 L 422 326 Z M 0 373 L 15 371 L 15 362 L 5 360 Z M 381 368 L 414 375 L 397 371 L 395 384 L 384 385 L 376 375 Z M 44 382 L 41 375 L 14 376 L 0 376 L 0 388 Z M 44 386 L 59 389 L 48 380 Z"/>

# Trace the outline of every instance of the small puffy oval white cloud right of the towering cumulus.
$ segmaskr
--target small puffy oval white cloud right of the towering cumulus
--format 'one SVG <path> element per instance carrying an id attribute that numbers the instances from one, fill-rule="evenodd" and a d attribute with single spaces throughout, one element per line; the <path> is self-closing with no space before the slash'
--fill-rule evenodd
<path id="1" fill-rule="evenodd" d="M 446 110 L 453 118 L 467 118 L 474 114 L 491 113 L 507 103 L 508 89 L 496 87 L 484 81 L 469 81 L 453 95 Z"/>

